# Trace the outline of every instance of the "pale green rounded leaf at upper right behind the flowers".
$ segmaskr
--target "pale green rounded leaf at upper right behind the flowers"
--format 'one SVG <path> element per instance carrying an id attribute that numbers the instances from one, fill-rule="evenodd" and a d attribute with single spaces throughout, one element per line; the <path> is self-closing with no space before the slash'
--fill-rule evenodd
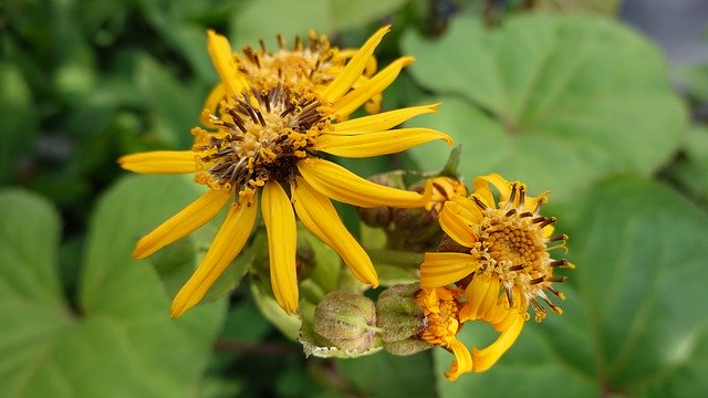
<path id="1" fill-rule="evenodd" d="M 438 41 L 408 32 L 403 46 L 442 102 L 424 123 L 462 144 L 469 178 L 498 171 L 568 199 L 610 172 L 649 175 L 677 148 L 685 112 L 664 61 L 616 22 L 533 15 L 489 31 L 461 18 Z M 441 149 L 413 155 L 437 170 Z"/>

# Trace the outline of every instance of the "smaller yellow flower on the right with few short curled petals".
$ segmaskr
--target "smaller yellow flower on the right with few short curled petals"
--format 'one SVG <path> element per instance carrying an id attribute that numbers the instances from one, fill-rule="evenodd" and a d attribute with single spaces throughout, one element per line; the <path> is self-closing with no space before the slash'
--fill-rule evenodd
<path id="1" fill-rule="evenodd" d="M 489 185 L 498 190 L 498 202 Z M 473 195 L 450 199 L 439 217 L 440 227 L 459 251 L 426 253 L 420 286 L 455 284 L 464 289 L 467 301 L 459 311 L 459 322 L 480 320 L 500 333 L 489 347 L 472 350 L 469 369 L 483 371 L 517 339 L 529 317 L 529 306 L 537 322 L 545 317 L 538 298 L 562 313 L 545 292 L 563 300 L 552 284 L 565 277 L 553 276 L 553 270 L 574 265 L 549 254 L 555 249 L 565 250 L 568 237 L 552 237 L 555 218 L 539 213 L 546 193 L 529 197 L 523 184 L 509 182 L 496 174 L 475 179 L 473 186 Z"/>

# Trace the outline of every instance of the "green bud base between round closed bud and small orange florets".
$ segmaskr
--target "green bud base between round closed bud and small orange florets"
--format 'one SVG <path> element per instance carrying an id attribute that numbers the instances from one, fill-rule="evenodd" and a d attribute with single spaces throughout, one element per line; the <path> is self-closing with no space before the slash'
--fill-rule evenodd
<path id="1" fill-rule="evenodd" d="M 418 334 L 425 328 L 425 316 L 416 303 L 417 283 L 394 285 L 378 295 L 376 325 L 382 329 L 384 349 L 394 355 L 410 355 L 433 347 Z"/>

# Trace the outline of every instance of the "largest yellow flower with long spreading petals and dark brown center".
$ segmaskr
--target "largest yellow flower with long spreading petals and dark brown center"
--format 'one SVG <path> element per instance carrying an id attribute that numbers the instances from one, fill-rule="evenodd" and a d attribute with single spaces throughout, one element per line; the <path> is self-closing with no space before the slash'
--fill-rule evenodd
<path id="1" fill-rule="evenodd" d="M 209 189 L 194 203 L 157 227 L 137 243 L 143 259 L 214 218 L 232 201 L 223 224 L 201 264 L 177 293 L 171 316 L 196 305 L 246 244 L 256 222 L 258 198 L 268 232 L 273 294 L 288 313 L 298 310 L 295 214 L 314 235 L 334 249 L 360 281 L 376 286 L 372 262 L 347 232 L 330 199 L 360 207 L 423 207 L 429 199 L 417 192 L 379 186 L 322 159 L 320 154 L 371 157 L 405 150 L 434 139 L 451 139 L 427 128 L 398 128 L 417 115 L 435 112 L 424 105 L 334 123 L 381 94 L 406 62 L 394 62 L 361 83 L 375 48 L 388 28 L 381 29 L 356 51 L 322 90 L 298 94 L 282 81 L 254 90 L 239 71 L 228 41 L 209 34 L 209 53 L 226 95 L 205 109 L 209 129 L 192 129 L 191 150 L 152 151 L 122 157 L 127 170 L 148 174 L 194 172 Z M 214 93 L 212 93 L 214 94 Z M 209 101 L 208 101 L 209 102 Z"/>

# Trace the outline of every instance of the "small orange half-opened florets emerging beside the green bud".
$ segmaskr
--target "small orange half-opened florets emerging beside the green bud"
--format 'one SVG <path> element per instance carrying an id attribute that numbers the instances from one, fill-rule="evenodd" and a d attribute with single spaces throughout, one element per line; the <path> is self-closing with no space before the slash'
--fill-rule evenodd
<path id="1" fill-rule="evenodd" d="M 416 303 L 423 311 L 426 327 L 420 333 L 428 344 L 449 346 L 459 329 L 459 293 L 449 287 L 421 289 Z"/>

